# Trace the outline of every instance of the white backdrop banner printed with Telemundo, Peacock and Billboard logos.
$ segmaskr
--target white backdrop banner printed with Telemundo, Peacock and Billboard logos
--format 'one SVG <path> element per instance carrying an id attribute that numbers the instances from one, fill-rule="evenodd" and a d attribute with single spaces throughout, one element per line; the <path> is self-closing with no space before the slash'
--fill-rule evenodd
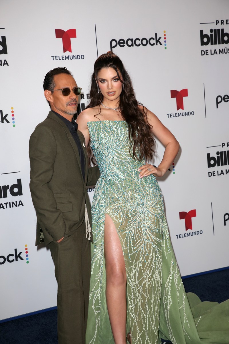
<path id="1" fill-rule="evenodd" d="M 44 76 L 59 66 L 73 73 L 79 114 L 94 61 L 108 50 L 180 142 L 158 181 L 181 275 L 228 267 L 229 2 L 2 0 L 0 10 L 0 320 L 56 305 L 29 190 L 29 138 L 49 111 Z M 163 150 L 157 142 L 154 165 Z"/>

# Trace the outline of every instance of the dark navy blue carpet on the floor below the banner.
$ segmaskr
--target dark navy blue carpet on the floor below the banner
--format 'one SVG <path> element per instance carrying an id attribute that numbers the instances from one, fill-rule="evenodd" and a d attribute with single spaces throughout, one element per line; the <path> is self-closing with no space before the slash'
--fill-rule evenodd
<path id="1" fill-rule="evenodd" d="M 229 299 L 229 269 L 185 278 L 186 292 L 194 292 L 201 301 Z M 57 344 L 57 310 L 0 323 L 1 344 Z M 171 343 L 171 342 L 167 342 Z"/>

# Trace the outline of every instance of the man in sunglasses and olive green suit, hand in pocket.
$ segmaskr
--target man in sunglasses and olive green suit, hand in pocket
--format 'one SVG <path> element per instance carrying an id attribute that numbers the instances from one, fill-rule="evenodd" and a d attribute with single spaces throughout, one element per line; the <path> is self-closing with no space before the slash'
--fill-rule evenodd
<path id="1" fill-rule="evenodd" d="M 71 72 L 54 68 L 43 86 L 51 111 L 32 133 L 29 148 L 36 245 L 48 244 L 55 264 L 58 343 L 84 344 L 91 274 L 86 186 L 95 185 L 100 174 L 98 166 L 88 167 L 85 140 L 73 121 L 81 89 Z"/>

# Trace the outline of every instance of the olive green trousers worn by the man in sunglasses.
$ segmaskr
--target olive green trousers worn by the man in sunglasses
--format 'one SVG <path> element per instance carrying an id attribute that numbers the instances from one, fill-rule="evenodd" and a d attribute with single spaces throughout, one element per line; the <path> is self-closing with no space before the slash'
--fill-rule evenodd
<path id="1" fill-rule="evenodd" d="M 84 344 L 91 276 L 91 241 L 85 223 L 59 244 L 49 243 L 58 283 L 58 344 Z"/>

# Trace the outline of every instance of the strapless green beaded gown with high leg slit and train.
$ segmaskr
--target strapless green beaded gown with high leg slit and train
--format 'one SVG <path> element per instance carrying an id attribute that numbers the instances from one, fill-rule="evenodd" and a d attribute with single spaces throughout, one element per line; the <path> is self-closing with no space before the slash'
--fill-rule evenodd
<path id="1" fill-rule="evenodd" d="M 228 302 L 201 303 L 195 294 L 188 295 L 188 302 L 160 187 L 153 175 L 138 178 L 137 170 L 145 161 L 129 154 L 126 122 L 93 121 L 88 128 L 101 177 L 92 202 L 94 244 L 86 344 L 114 343 L 105 296 L 105 214 L 112 218 L 123 248 L 126 330 L 131 329 L 133 344 L 158 344 L 160 338 L 173 344 L 229 343 Z"/>

